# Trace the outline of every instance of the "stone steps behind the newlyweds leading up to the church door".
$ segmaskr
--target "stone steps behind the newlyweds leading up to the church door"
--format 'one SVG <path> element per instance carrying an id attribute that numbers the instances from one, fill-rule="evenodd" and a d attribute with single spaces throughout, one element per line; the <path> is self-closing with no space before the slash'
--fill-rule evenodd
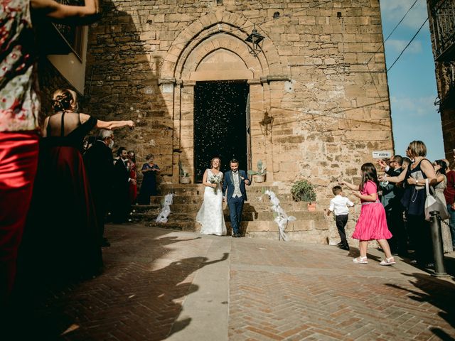
<path id="1" fill-rule="evenodd" d="M 269 197 L 262 194 L 263 188 L 278 193 L 274 186 L 252 185 L 247 188 L 248 201 L 242 214 L 242 231 L 245 237 L 260 237 L 278 239 L 278 225 L 274 222 L 272 204 Z M 151 197 L 151 205 L 134 205 L 132 220 L 143 222 L 147 226 L 178 229 L 182 231 L 198 232 L 200 224 L 196 222 L 196 215 L 203 202 L 204 186 L 191 185 L 161 185 L 163 195 Z M 161 212 L 161 202 L 164 195 L 174 193 L 171 214 L 168 222 L 157 223 L 156 217 Z M 289 222 L 286 232 L 291 240 L 303 240 L 318 244 L 328 244 L 328 223 L 323 211 L 309 212 L 306 202 L 294 202 L 291 195 L 277 195 L 280 205 L 287 213 L 296 217 L 296 221 Z M 228 205 L 223 205 L 225 222 L 230 234 L 230 216 Z"/>

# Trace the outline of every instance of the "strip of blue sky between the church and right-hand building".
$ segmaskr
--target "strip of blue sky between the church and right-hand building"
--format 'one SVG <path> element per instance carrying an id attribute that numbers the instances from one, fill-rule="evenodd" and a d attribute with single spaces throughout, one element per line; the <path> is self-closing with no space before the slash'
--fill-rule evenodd
<path id="1" fill-rule="evenodd" d="M 405 15 L 415 0 L 380 0 L 384 39 Z M 387 69 L 410 42 L 428 17 L 427 1 L 417 3 L 405 20 L 385 42 Z M 395 153 L 405 156 L 410 141 L 427 145 L 430 161 L 445 158 L 441 117 L 437 99 L 434 57 L 428 22 L 424 25 L 400 60 L 387 72 L 392 106 L 392 129 Z"/>

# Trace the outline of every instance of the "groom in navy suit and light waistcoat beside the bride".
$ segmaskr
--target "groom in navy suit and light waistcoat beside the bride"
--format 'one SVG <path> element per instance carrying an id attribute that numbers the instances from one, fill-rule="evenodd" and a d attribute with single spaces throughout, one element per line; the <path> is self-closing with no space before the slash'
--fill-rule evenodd
<path id="1" fill-rule="evenodd" d="M 232 158 L 230 161 L 230 171 L 227 171 L 223 182 L 223 200 L 228 198 L 230 224 L 232 225 L 232 237 L 242 237 L 240 235 L 240 224 L 242 222 L 243 202 L 247 201 L 247 191 L 245 185 L 250 185 L 247 173 L 239 170 L 239 161 Z M 228 189 L 228 194 L 226 194 Z"/>

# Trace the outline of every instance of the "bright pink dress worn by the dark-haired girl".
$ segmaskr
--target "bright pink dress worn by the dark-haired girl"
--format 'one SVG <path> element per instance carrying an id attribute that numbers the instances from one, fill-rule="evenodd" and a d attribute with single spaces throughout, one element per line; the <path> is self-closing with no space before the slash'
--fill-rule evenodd
<path id="1" fill-rule="evenodd" d="M 378 188 L 373 181 L 368 180 L 360 194 L 370 195 L 373 193 L 378 193 Z M 355 224 L 353 238 L 360 240 L 390 239 L 392 234 L 387 228 L 384 206 L 379 200 L 376 202 L 360 201 L 362 202 L 362 209 L 358 222 Z"/>

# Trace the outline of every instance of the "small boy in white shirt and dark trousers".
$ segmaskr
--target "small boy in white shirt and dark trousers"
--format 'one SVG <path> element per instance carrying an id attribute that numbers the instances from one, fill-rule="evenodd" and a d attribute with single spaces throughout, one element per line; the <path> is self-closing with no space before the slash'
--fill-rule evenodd
<path id="1" fill-rule="evenodd" d="M 349 244 L 346 239 L 344 227 L 348 223 L 348 207 L 353 207 L 354 204 L 347 197 L 343 197 L 343 189 L 341 186 L 334 186 L 332 188 L 332 192 L 335 197 L 330 200 L 330 207 L 328 207 L 327 215 L 330 215 L 331 212 L 335 215 L 336 228 L 338 229 L 338 234 L 340 234 L 341 238 L 341 242 L 339 242 L 337 246 L 340 249 L 349 250 Z"/>

